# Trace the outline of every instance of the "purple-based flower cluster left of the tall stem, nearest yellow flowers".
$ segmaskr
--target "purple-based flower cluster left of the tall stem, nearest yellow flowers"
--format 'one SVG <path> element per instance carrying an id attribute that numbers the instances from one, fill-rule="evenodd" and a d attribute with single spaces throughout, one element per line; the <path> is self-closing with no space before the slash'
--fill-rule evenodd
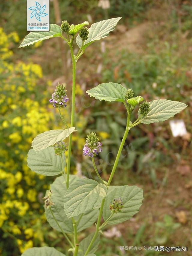
<path id="1" fill-rule="evenodd" d="M 65 86 L 58 83 L 52 94 L 52 99 L 49 100 L 50 103 L 53 103 L 53 107 L 67 107 L 66 103 L 69 101 L 69 98 L 67 98 L 66 92 Z"/>

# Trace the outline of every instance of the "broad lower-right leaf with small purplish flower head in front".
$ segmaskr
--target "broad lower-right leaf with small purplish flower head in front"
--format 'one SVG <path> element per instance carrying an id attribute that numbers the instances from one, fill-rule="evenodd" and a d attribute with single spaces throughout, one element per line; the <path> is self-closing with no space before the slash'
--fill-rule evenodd
<path id="1" fill-rule="evenodd" d="M 114 213 L 108 224 L 119 224 L 135 215 L 143 200 L 143 189 L 137 186 L 110 186 L 104 203 L 103 218 L 106 221 L 111 215 L 110 205 L 114 199 L 121 197 L 123 208 L 121 212 Z"/>

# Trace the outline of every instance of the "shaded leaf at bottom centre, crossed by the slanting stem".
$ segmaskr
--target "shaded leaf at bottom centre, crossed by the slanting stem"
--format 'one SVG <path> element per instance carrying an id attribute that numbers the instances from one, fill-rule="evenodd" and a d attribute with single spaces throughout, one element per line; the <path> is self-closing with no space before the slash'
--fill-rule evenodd
<path id="1" fill-rule="evenodd" d="M 83 256 L 88 248 L 88 246 L 91 243 L 91 240 L 94 236 L 94 233 L 89 234 L 87 237 L 85 237 L 80 243 L 79 243 L 79 251 L 78 251 L 78 255 L 79 256 Z M 95 251 L 97 251 L 98 246 L 99 246 L 99 242 L 100 242 L 100 234 L 98 234 L 98 236 L 96 237 L 90 251 L 88 255 L 93 255 L 93 253 Z"/>

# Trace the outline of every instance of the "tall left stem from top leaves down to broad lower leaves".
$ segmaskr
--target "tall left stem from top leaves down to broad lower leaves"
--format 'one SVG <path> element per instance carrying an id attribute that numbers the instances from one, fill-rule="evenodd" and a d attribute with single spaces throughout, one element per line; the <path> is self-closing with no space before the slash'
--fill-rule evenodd
<path id="1" fill-rule="evenodd" d="M 71 107 L 71 123 L 70 127 L 74 124 L 74 114 L 75 114 L 75 78 L 76 78 L 76 61 L 73 55 L 73 46 L 70 44 L 70 53 L 73 65 L 73 84 L 72 84 L 72 107 Z M 67 180 L 66 186 L 69 187 L 69 173 L 70 173 L 70 158 L 71 158 L 71 143 L 72 143 L 72 133 L 69 135 L 69 145 L 68 145 L 68 156 L 67 156 Z"/>

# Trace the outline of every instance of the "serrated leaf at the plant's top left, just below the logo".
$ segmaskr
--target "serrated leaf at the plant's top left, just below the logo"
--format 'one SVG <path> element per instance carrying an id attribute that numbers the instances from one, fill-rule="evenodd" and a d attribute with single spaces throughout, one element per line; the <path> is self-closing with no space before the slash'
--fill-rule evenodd
<path id="1" fill-rule="evenodd" d="M 22 43 L 19 45 L 20 47 L 26 47 L 32 44 L 35 44 L 39 41 L 43 41 L 52 37 L 61 36 L 61 28 L 56 24 L 50 24 L 49 31 L 32 31 L 23 39 Z"/>

